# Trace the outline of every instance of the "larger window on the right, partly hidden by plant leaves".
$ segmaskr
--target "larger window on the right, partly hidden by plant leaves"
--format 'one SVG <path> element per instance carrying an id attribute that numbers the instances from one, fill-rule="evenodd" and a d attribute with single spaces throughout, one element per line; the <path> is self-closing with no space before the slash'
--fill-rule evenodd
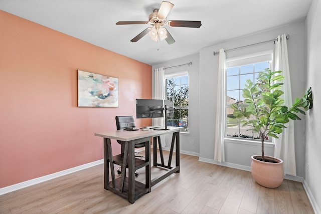
<path id="1" fill-rule="evenodd" d="M 262 61 L 264 59 L 264 61 Z M 250 63 L 252 61 L 252 63 Z M 264 56 L 255 56 L 250 58 L 242 58 L 241 60 L 230 60 L 226 63 L 226 126 L 225 136 L 234 139 L 259 139 L 258 133 L 247 131 L 250 126 L 242 127 L 239 119 L 233 117 L 233 109 L 231 104 L 236 103 L 246 106 L 242 90 L 246 84 L 246 80 L 250 79 L 254 84 L 262 84 L 258 79 L 259 73 L 266 68 L 271 69 L 272 54 Z"/>

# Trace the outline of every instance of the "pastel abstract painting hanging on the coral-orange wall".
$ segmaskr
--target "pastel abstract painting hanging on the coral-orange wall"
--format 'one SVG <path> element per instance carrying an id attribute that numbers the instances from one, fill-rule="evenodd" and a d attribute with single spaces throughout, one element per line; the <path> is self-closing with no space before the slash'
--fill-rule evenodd
<path id="1" fill-rule="evenodd" d="M 78 107 L 118 107 L 119 80 L 78 70 Z"/>

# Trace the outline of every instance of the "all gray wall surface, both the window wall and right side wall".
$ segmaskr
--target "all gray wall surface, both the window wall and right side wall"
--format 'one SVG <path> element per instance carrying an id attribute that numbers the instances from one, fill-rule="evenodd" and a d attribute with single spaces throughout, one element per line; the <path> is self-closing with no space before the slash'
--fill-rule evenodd
<path id="1" fill-rule="evenodd" d="M 321 207 L 321 185 L 319 182 L 321 177 L 319 161 L 321 143 L 318 138 L 319 130 L 321 130 L 321 123 L 319 122 L 321 112 L 315 109 L 320 106 L 321 102 L 321 85 L 319 83 L 321 80 L 319 71 L 321 68 L 320 26 L 321 2 L 313 0 L 306 21 L 298 21 L 291 25 L 216 44 L 201 49 L 198 55 L 153 66 L 153 69 L 155 69 L 192 61 L 193 65 L 190 68 L 179 67 L 168 70 L 168 72 L 173 72 L 188 69 L 190 72 L 190 133 L 181 134 L 182 152 L 199 155 L 201 161 L 216 163 L 214 161 L 214 130 L 218 56 L 214 56 L 213 52 L 218 52 L 221 48 L 232 49 L 271 40 L 281 34 L 289 34 L 290 39 L 287 41 L 287 45 L 292 98 L 294 100 L 296 97 L 301 97 L 309 86 L 313 90 L 314 109 L 307 112 L 305 117 L 302 116 L 302 121 L 295 121 L 294 125 L 297 178 L 302 178 L 303 185 L 316 213 L 321 213 L 319 209 Z M 227 58 L 271 49 L 274 50 L 273 42 L 254 45 L 248 48 L 228 51 Z M 194 140 L 194 145 L 190 144 L 192 139 Z M 273 145 L 267 144 L 266 149 L 267 154 L 273 154 Z M 227 141 L 225 143 L 226 162 L 221 164 L 249 170 L 250 156 L 259 153 L 259 144 Z"/>

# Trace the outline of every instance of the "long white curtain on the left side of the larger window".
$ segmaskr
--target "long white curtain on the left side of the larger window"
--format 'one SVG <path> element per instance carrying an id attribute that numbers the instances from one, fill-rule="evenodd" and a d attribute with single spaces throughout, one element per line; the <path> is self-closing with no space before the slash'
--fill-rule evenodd
<path id="1" fill-rule="evenodd" d="M 214 160 L 225 161 L 224 157 L 224 129 L 225 129 L 225 50 L 220 50 L 219 69 L 216 96 L 216 123 L 215 123 L 215 151 Z"/>

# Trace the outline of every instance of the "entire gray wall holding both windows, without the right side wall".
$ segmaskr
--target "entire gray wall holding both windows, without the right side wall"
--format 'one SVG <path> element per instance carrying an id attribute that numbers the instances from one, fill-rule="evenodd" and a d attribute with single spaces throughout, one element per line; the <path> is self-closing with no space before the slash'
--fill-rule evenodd
<path id="1" fill-rule="evenodd" d="M 182 66 L 167 69 L 166 72 L 176 72 L 189 70 L 190 74 L 190 106 L 189 106 L 189 134 L 181 134 L 182 152 L 192 155 L 199 155 L 201 161 L 214 161 L 214 133 L 215 133 L 215 111 L 216 111 L 216 85 L 218 56 L 213 52 L 219 49 L 232 49 L 246 46 L 253 43 L 267 41 L 276 38 L 281 34 L 289 34 L 287 41 L 289 67 L 291 72 L 291 86 L 293 99 L 304 94 L 306 88 L 306 69 L 305 69 L 305 24 L 304 21 L 282 26 L 276 29 L 267 30 L 258 34 L 249 35 L 222 44 L 213 45 L 200 50 L 197 55 L 192 55 L 169 62 L 154 65 L 152 68 L 171 67 L 185 64 L 192 61 L 192 66 Z M 273 50 L 274 43 L 268 42 L 241 48 L 234 51 L 227 51 L 227 58 L 245 54 Z M 154 84 L 154 76 L 153 76 Z M 305 122 L 295 122 L 295 155 L 297 176 L 303 177 L 305 165 Z M 194 140 L 194 145 L 191 145 Z M 167 145 L 168 147 L 168 145 Z M 273 145 L 266 145 L 266 154 L 273 155 Z M 226 141 L 225 143 L 225 163 L 232 167 L 250 170 L 250 156 L 260 154 L 259 143 L 236 143 Z"/>

